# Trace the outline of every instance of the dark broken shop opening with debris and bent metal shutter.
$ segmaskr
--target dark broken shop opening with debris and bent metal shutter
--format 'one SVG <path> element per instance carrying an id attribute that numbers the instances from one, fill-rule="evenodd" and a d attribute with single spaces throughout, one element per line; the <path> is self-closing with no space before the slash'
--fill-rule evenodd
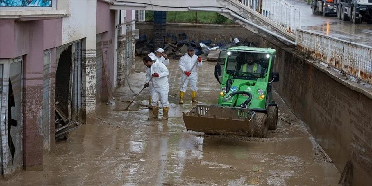
<path id="1" fill-rule="evenodd" d="M 55 138 L 81 126 L 82 41 L 57 47 L 55 69 Z M 44 84 L 45 85 L 45 84 Z"/>

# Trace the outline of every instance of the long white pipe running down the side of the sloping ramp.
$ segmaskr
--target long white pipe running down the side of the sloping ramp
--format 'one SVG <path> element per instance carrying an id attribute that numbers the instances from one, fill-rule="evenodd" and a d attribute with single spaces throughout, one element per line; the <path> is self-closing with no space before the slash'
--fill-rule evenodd
<path id="1" fill-rule="evenodd" d="M 278 34 L 276 34 L 274 32 L 271 32 L 271 31 L 267 30 L 266 28 L 263 28 L 262 26 L 256 25 L 255 23 L 252 23 L 252 22 L 248 21 L 247 19 L 244 19 L 243 17 L 236 15 L 235 13 L 232 13 L 230 10 L 224 10 L 224 9 L 203 9 L 203 8 L 192 8 L 192 7 L 188 7 L 187 9 L 190 10 L 190 11 L 229 13 L 232 17 L 235 17 L 235 18 L 237 18 L 237 19 L 239 19 L 239 20 L 241 20 L 241 21 L 243 21 L 245 23 L 248 23 L 249 25 L 254 26 L 254 27 L 256 27 L 256 28 L 258 28 L 258 29 L 266 32 L 266 33 L 269 33 L 270 35 L 273 35 L 273 36 L 275 36 L 277 38 L 283 39 L 284 41 L 289 42 L 292 45 L 296 45 L 295 42 L 293 42 L 293 41 L 291 41 L 291 40 L 289 40 L 289 39 L 287 39 L 287 38 L 285 38 L 283 36 L 280 36 L 280 35 L 278 35 Z"/>

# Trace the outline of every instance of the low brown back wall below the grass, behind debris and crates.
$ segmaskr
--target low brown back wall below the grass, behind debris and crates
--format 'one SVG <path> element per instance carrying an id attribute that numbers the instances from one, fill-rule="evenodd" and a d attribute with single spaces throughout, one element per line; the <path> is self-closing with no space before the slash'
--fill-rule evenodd
<path id="1" fill-rule="evenodd" d="M 136 28 L 140 29 L 140 36 L 146 34 L 147 38 L 153 38 L 154 25 L 152 22 L 137 22 Z M 259 37 L 243 28 L 240 25 L 207 25 L 207 24 L 193 24 L 193 23 L 167 23 L 167 33 L 186 33 L 189 41 L 211 39 L 212 42 L 218 43 L 224 40 L 233 38 L 248 39 L 250 42 L 258 43 Z M 243 41 L 241 41 L 243 42 Z"/>

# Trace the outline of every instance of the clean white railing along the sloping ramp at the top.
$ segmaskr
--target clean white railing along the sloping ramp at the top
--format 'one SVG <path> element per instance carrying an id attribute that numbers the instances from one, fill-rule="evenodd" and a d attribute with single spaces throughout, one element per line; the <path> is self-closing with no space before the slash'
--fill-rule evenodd
<path id="1" fill-rule="evenodd" d="M 284 0 L 237 0 L 264 17 L 295 33 L 301 28 L 300 10 Z"/>

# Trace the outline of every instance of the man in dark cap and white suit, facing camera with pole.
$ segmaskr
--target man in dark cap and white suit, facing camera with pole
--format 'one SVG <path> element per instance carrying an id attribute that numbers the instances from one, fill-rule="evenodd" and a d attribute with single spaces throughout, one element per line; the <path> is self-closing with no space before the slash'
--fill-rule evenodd
<path id="1" fill-rule="evenodd" d="M 193 69 L 192 66 L 195 65 Z M 188 77 L 183 83 L 181 89 L 180 89 L 180 104 L 183 104 L 183 96 L 185 95 L 186 89 L 187 89 L 187 84 L 190 83 L 190 89 L 191 89 L 191 99 L 193 103 L 198 103 L 196 100 L 196 91 L 198 90 L 197 82 L 198 82 L 198 67 L 203 66 L 202 58 L 194 55 L 194 48 L 189 47 L 187 48 L 187 53 L 183 55 L 180 60 L 179 60 L 179 65 L 181 71 L 182 71 L 182 77 L 181 77 L 181 82 L 185 80 L 186 77 Z"/>

